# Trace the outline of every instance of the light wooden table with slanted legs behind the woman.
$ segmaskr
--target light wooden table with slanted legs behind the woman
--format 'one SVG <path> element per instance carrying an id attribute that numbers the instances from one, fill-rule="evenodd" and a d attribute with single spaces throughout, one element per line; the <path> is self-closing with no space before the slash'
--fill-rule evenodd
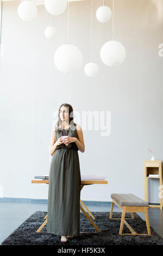
<path id="1" fill-rule="evenodd" d="M 32 183 L 36 183 L 36 184 L 49 184 L 49 180 L 32 180 Z M 81 186 L 80 186 L 80 191 L 82 190 L 82 188 L 86 185 L 93 185 L 93 184 L 108 184 L 107 180 L 81 180 Z M 87 214 L 91 216 L 89 216 Z M 82 200 L 80 199 L 80 210 L 83 212 L 83 214 L 85 215 L 85 217 L 91 222 L 91 224 L 93 225 L 93 227 L 95 227 L 95 229 L 97 230 L 97 232 L 101 232 L 99 230 L 99 228 L 97 227 L 97 225 L 95 224 L 95 222 L 93 222 L 93 220 L 95 220 L 95 217 L 91 214 L 90 210 L 86 207 L 86 205 L 82 202 Z M 41 229 L 47 224 L 47 215 L 45 216 L 45 222 L 42 223 L 42 225 L 40 226 L 39 229 L 37 229 L 37 233 L 39 233 L 41 231 Z M 92 220 L 93 219 L 93 220 Z M 85 232 L 80 232 L 80 233 L 85 233 Z"/>

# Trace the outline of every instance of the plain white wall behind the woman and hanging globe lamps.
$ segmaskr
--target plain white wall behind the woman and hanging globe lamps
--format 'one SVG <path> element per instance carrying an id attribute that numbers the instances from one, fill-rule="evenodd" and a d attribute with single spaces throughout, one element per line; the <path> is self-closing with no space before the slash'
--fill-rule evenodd
<path id="1" fill-rule="evenodd" d="M 34 175 L 48 174 L 53 113 L 62 103 L 74 111 L 111 111 L 111 134 L 83 130 L 85 152 L 79 151 L 80 172 L 103 174 L 108 185 L 82 190 L 83 200 L 110 201 L 111 193 L 135 193 L 144 198 L 143 161 L 162 160 L 162 1 L 116 0 L 115 40 L 126 47 L 121 66 L 105 66 L 99 51 L 112 39 L 112 20 L 100 23 L 93 0 L 93 61 L 96 78 L 84 74 L 90 61 L 91 0 L 70 3 L 69 43 L 83 53 L 83 66 L 62 74 L 53 63 L 57 48 L 67 42 L 67 9 L 52 17 L 58 34 L 51 41 L 43 34 L 49 14 L 37 6 L 34 21 L 17 15 L 21 1 L 3 2 L 1 58 L 1 180 L 4 197 L 47 199 L 48 186 L 31 184 Z M 105 0 L 112 9 L 112 1 Z M 159 7 L 159 9 L 158 9 Z M 77 121 L 74 119 L 74 121 Z M 79 123 L 82 126 L 82 123 Z M 151 182 L 151 202 L 159 202 L 158 180 Z M 158 191 L 159 192 L 159 191 Z"/>

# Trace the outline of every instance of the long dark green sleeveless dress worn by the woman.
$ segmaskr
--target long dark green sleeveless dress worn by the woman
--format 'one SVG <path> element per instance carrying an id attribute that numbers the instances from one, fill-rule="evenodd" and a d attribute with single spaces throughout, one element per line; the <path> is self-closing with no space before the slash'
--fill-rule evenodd
<path id="1" fill-rule="evenodd" d="M 55 130 L 61 136 L 77 137 L 76 124 Z M 47 232 L 55 235 L 80 234 L 80 165 L 76 143 L 58 145 L 49 170 Z"/>

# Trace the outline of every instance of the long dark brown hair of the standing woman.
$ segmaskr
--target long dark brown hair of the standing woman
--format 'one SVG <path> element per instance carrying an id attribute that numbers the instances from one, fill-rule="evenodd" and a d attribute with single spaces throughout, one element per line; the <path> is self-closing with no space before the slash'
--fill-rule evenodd
<path id="1" fill-rule="evenodd" d="M 69 126 L 72 127 L 72 129 L 74 129 L 74 125 L 76 125 L 73 121 L 73 108 L 70 104 L 68 103 L 63 103 L 60 108 L 64 106 L 67 108 L 67 111 L 69 113 Z M 60 108 L 59 108 L 59 111 L 58 111 L 58 120 L 57 120 L 57 124 L 55 125 L 55 130 L 58 131 L 59 130 L 59 127 L 63 128 L 62 127 L 62 120 L 60 119 Z"/>

